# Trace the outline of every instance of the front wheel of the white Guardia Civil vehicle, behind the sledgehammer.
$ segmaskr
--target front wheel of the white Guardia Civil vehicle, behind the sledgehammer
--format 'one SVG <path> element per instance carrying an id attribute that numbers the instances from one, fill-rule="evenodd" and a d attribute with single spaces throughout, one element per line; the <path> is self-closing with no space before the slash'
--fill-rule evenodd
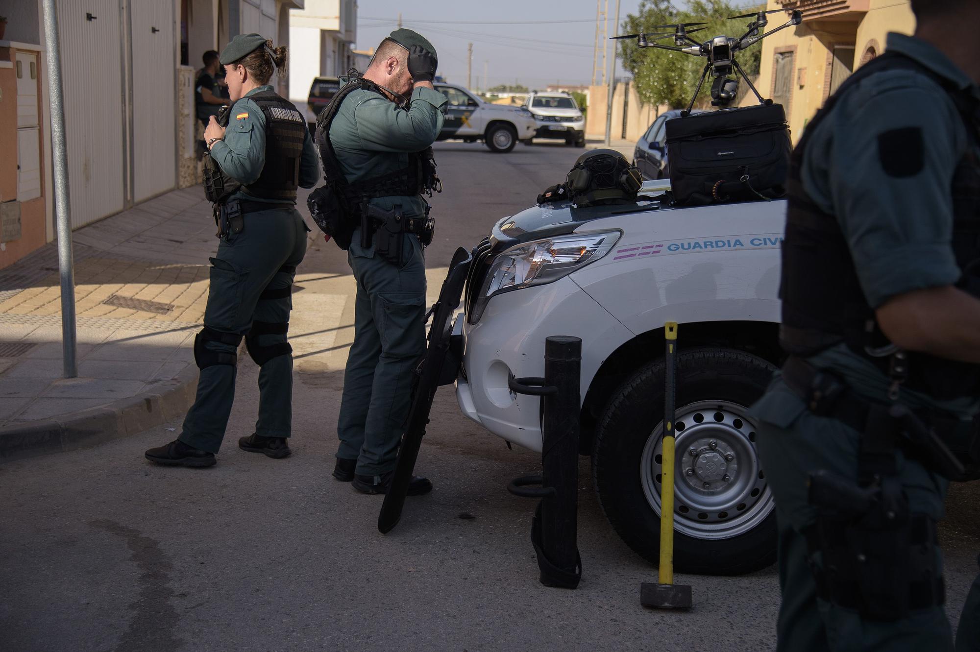
<path id="1" fill-rule="evenodd" d="M 747 413 L 773 370 L 760 357 L 735 349 L 678 354 L 675 432 L 680 463 L 674 483 L 673 549 L 678 572 L 741 575 L 776 559 L 774 502 Z M 603 512 L 623 541 L 653 564 L 660 556 L 663 374 L 660 358 L 616 391 L 601 417 L 592 453 L 592 477 Z M 698 451 L 697 471 L 691 449 Z M 715 475 L 707 475 L 709 470 Z M 718 479 L 718 473 L 729 480 Z M 715 489 L 706 488 L 706 482 Z"/>

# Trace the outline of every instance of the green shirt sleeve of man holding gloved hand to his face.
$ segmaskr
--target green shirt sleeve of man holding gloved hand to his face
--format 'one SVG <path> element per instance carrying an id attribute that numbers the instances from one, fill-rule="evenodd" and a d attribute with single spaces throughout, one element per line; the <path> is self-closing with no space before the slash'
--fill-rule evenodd
<path id="1" fill-rule="evenodd" d="M 354 110 L 361 149 L 372 152 L 417 152 L 435 142 L 442 130 L 446 96 L 430 88 L 412 92 L 409 110 L 370 93 Z"/>

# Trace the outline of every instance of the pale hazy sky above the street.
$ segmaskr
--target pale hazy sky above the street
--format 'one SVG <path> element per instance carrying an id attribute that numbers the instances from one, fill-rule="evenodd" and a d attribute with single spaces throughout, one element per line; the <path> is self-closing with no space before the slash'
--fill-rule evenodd
<path id="1" fill-rule="evenodd" d="M 605 6 L 607 0 L 602 1 Z M 635 13 L 639 4 L 639 0 L 620 0 L 620 16 Z M 435 46 L 438 73 L 447 81 L 466 84 L 466 45 L 470 42 L 470 87 L 474 90 L 502 83 L 519 82 L 533 89 L 591 81 L 596 0 L 358 0 L 357 49 L 375 47 L 396 28 L 399 12 L 403 26 L 415 29 Z M 609 35 L 613 36 L 615 0 L 609 0 L 609 13 Z M 608 51 L 612 53 L 611 48 Z M 618 66 L 616 70 L 621 74 Z"/>

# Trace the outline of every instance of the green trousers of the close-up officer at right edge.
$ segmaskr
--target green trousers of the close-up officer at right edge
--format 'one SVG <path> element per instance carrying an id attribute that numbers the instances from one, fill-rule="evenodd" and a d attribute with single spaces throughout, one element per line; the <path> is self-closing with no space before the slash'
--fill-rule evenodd
<path id="1" fill-rule="evenodd" d="M 807 480 L 818 469 L 857 478 L 858 432 L 836 419 L 810 413 L 781 379 L 773 381 L 753 412 L 760 419 L 756 445 L 762 468 L 776 499 L 782 591 L 776 649 L 952 651 L 953 633 L 942 607 L 912 611 L 902 621 L 879 622 L 862 619 L 856 611 L 817 597 L 808 563 L 819 567 L 819 554 L 810 558 L 807 540 L 801 534 L 816 520 L 816 511 L 808 501 Z M 948 483 L 909 459 L 903 460 L 901 479 L 910 511 L 939 520 Z"/>

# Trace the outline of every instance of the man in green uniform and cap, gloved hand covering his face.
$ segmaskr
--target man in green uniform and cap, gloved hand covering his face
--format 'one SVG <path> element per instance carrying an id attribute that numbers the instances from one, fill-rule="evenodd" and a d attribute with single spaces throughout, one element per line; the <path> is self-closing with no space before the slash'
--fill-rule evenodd
<path id="1" fill-rule="evenodd" d="M 357 280 L 355 335 L 333 472 L 366 493 L 384 493 L 390 483 L 413 370 L 425 351 L 425 260 L 419 235 L 408 229 L 427 221 L 428 205 L 417 174 L 399 170 L 427 164 L 417 153 L 442 129 L 446 98 L 432 87 L 436 66 L 435 48 L 426 39 L 411 29 L 391 32 L 358 82 L 361 87 L 342 97 L 326 126 L 344 177 L 360 183 L 367 200 L 361 221 L 366 228 L 357 227 L 348 249 Z M 431 488 L 416 478 L 409 493 Z"/>

